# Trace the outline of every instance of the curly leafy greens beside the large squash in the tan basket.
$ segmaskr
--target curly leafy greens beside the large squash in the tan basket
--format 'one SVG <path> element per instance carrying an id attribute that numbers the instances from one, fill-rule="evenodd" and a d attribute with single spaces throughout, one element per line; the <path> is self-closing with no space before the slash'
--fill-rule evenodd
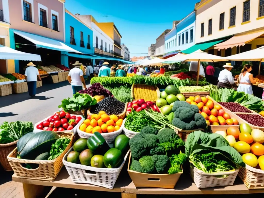
<path id="1" fill-rule="evenodd" d="M 51 145 L 50 157 L 48 160 L 53 160 L 59 157 L 63 153 L 63 151 L 66 149 L 69 143 L 70 143 L 70 139 L 66 137 L 57 139 L 56 142 Z"/>

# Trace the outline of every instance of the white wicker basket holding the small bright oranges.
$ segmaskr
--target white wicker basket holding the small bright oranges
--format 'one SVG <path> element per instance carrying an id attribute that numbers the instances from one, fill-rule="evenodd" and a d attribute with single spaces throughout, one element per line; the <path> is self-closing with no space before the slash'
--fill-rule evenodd
<path id="1" fill-rule="evenodd" d="M 123 128 L 124 128 L 124 124 L 125 124 L 125 122 L 123 121 L 120 129 L 117 130 L 117 131 L 114 131 L 114 132 L 111 132 L 111 133 L 101 133 L 101 135 L 103 136 L 103 138 L 105 138 L 105 141 L 107 143 L 112 143 L 112 142 L 115 141 L 115 138 L 122 133 Z M 78 132 L 78 135 L 80 136 L 80 138 L 89 139 L 89 138 L 91 138 L 93 136 L 93 133 L 86 133 L 86 132 L 81 131 L 80 130 L 80 126 L 81 126 L 81 124 L 77 128 L 77 132 Z"/>

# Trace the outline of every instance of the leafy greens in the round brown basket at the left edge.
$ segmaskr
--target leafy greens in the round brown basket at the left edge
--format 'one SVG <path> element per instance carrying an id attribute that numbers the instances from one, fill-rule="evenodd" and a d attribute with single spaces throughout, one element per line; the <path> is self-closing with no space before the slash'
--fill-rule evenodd
<path id="1" fill-rule="evenodd" d="M 32 132 L 32 122 L 3 122 L 0 126 L 0 144 L 7 144 L 19 140 L 23 135 Z"/>

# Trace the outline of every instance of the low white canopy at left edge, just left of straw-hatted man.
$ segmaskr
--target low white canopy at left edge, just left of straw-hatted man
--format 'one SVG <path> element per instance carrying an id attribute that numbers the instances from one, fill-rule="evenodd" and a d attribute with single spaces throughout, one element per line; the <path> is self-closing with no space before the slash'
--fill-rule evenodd
<path id="1" fill-rule="evenodd" d="M 0 59 L 41 61 L 38 54 L 30 54 L 0 45 Z"/>

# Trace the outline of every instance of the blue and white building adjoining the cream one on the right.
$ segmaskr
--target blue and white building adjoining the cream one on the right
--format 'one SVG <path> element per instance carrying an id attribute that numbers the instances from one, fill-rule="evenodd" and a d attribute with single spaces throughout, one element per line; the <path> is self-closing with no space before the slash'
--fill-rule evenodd
<path id="1" fill-rule="evenodd" d="M 165 36 L 165 53 L 183 51 L 195 44 L 195 20 L 196 13 L 193 11 Z"/>

